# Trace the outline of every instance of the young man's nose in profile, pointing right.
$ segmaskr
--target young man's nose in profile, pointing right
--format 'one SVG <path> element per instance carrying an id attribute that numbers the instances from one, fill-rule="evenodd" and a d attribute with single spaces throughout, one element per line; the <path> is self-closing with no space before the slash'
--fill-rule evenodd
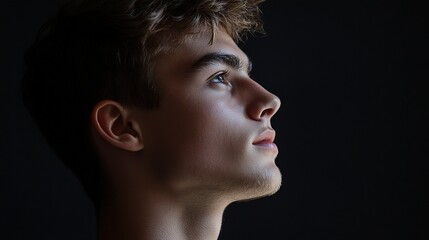
<path id="1" fill-rule="evenodd" d="M 253 82 L 250 88 L 248 92 L 250 99 L 246 107 L 247 116 L 255 121 L 270 119 L 280 108 L 280 98 L 256 82 Z"/>

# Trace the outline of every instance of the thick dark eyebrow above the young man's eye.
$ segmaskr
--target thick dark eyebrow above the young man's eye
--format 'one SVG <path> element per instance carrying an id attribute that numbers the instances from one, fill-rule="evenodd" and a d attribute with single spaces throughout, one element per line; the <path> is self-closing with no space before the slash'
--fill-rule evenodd
<path id="1" fill-rule="evenodd" d="M 206 54 L 198 59 L 194 64 L 192 64 L 189 71 L 198 71 L 215 64 L 225 64 L 236 70 L 245 69 L 247 73 L 252 70 L 252 62 L 250 60 L 248 60 L 246 63 L 243 63 L 243 61 L 236 55 L 215 52 Z"/>

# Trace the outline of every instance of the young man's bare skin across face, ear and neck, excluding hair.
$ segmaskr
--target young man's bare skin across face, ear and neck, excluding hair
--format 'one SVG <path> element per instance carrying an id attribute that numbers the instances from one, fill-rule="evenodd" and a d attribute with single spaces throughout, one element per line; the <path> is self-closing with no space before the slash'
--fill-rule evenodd
<path id="1" fill-rule="evenodd" d="M 228 204 L 275 193 L 271 117 L 280 100 L 249 77 L 223 30 L 156 59 L 156 110 L 105 100 L 93 139 L 105 173 L 99 239 L 217 239 Z M 272 137 L 272 136 L 271 136 Z"/>

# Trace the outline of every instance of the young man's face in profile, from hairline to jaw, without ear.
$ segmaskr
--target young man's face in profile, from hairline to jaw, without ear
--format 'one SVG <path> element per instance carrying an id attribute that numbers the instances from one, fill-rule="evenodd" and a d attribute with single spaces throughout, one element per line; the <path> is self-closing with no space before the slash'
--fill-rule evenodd
<path id="1" fill-rule="evenodd" d="M 182 195 L 272 194 L 281 174 L 270 120 L 280 100 L 249 77 L 248 57 L 225 31 L 210 38 L 197 34 L 156 59 L 161 101 L 138 113 L 142 157 Z"/>

